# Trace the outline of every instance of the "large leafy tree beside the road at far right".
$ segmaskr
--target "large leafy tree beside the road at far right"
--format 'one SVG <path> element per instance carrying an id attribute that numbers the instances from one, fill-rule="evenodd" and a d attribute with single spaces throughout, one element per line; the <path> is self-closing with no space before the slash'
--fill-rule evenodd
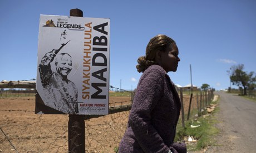
<path id="1" fill-rule="evenodd" d="M 243 95 L 247 95 L 247 89 L 253 90 L 255 88 L 256 76 L 254 72 L 249 74 L 244 72 L 244 64 L 233 65 L 228 73 L 233 85 L 243 86 Z"/>

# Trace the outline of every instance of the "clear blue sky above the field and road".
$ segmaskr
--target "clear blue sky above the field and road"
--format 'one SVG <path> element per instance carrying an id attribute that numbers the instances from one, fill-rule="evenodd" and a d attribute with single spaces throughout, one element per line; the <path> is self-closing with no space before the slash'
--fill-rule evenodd
<path id="1" fill-rule="evenodd" d="M 110 18 L 110 85 L 133 90 L 141 73 L 137 59 L 157 34 L 173 38 L 179 48 L 175 84 L 209 84 L 227 89 L 232 65 L 256 72 L 256 1 L 0 1 L 0 81 L 29 80 L 37 75 L 40 14 Z M 232 88 L 237 86 L 232 85 Z"/>

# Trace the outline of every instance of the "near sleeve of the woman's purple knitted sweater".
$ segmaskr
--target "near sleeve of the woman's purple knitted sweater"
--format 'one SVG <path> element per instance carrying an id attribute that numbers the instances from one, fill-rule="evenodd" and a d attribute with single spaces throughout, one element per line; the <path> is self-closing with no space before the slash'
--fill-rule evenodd
<path id="1" fill-rule="evenodd" d="M 151 123 L 151 111 L 163 94 L 164 81 L 165 75 L 160 70 L 152 69 L 144 74 L 130 111 L 129 125 L 144 152 L 168 152 L 170 150 Z"/>

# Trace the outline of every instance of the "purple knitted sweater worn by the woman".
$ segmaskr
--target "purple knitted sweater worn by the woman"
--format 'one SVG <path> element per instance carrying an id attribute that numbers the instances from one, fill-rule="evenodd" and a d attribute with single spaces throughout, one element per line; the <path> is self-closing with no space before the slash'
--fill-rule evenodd
<path id="1" fill-rule="evenodd" d="M 173 143 L 180 106 L 168 74 L 159 65 L 151 65 L 137 85 L 119 152 L 186 152 L 185 144 Z"/>

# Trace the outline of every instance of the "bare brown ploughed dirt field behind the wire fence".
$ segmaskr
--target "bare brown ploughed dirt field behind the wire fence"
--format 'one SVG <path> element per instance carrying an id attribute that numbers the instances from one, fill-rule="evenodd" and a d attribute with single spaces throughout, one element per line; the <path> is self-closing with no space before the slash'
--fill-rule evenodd
<path id="1" fill-rule="evenodd" d="M 130 103 L 129 96 L 110 97 L 110 106 Z M 184 96 L 188 111 L 189 96 Z M 191 108 L 196 108 L 196 98 Z M 115 152 L 129 111 L 85 120 L 86 152 Z M 35 114 L 35 98 L 0 99 L 0 152 L 68 152 L 68 115 Z"/>

